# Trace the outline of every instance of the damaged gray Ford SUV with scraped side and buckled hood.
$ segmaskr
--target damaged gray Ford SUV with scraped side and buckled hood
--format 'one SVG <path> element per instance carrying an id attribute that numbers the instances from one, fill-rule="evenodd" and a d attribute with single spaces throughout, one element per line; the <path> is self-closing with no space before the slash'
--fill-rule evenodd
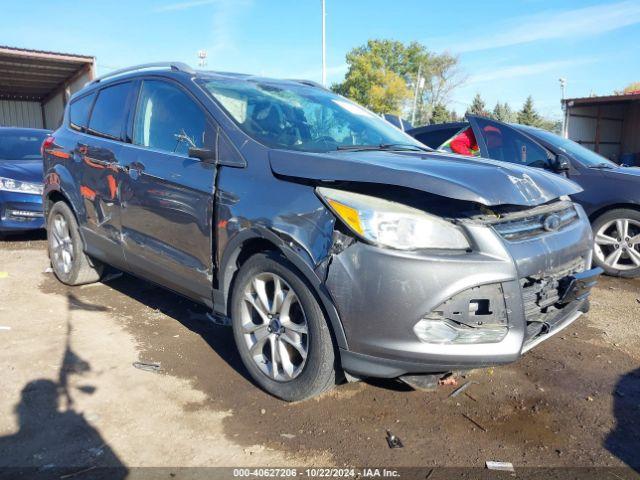
<path id="1" fill-rule="evenodd" d="M 434 152 L 312 82 L 113 72 L 43 151 L 58 279 L 111 265 L 208 306 L 289 401 L 513 362 L 600 273 L 576 184 Z"/>

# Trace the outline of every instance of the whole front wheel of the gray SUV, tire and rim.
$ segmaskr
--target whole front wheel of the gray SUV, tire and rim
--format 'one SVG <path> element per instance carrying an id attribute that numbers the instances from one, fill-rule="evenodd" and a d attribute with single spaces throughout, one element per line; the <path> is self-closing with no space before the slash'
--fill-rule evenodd
<path id="1" fill-rule="evenodd" d="M 255 382 L 286 401 L 310 398 L 336 383 L 331 333 L 297 269 L 275 253 L 240 267 L 232 292 L 233 333 Z"/>

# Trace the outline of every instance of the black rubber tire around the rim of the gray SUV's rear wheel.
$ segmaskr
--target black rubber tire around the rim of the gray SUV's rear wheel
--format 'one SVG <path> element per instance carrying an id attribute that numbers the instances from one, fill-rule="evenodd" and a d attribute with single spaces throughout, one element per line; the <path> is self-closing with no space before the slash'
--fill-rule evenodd
<path id="1" fill-rule="evenodd" d="M 71 268 L 68 271 L 64 271 L 55 261 L 53 223 L 57 216 L 61 216 L 68 225 L 68 233 L 71 240 L 70 247 L 73 252 Z M 97 282 L 102 277 L 104 266 L 84 253 L 84 244 L 78 229 L 78 222 L 71 208 L 65 202 L 56 202 L 49 210 L 47 215 L 47 244 L 53 273 L 65 285 L 84 285 Z"/>

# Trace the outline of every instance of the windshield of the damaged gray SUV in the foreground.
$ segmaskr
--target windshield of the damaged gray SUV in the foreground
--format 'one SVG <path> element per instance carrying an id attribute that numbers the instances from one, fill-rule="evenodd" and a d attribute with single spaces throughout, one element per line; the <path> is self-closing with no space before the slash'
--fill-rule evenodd
<path id="1" fill-rule="evenodd" d="M 202 84 L 247 135 L 269 147 L 306 152 L 350 146 L 424 149 L 386 120 L 318 87 L 228 78 Z"/>

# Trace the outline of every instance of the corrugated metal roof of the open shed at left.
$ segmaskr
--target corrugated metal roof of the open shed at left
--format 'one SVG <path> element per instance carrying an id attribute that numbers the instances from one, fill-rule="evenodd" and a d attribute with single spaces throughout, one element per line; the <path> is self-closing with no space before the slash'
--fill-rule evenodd
<path id="1" fill-rule="evenodd" d="M 0 46 L 0 99 L 42 101 L 94 63 L 87 55 Z"/>

